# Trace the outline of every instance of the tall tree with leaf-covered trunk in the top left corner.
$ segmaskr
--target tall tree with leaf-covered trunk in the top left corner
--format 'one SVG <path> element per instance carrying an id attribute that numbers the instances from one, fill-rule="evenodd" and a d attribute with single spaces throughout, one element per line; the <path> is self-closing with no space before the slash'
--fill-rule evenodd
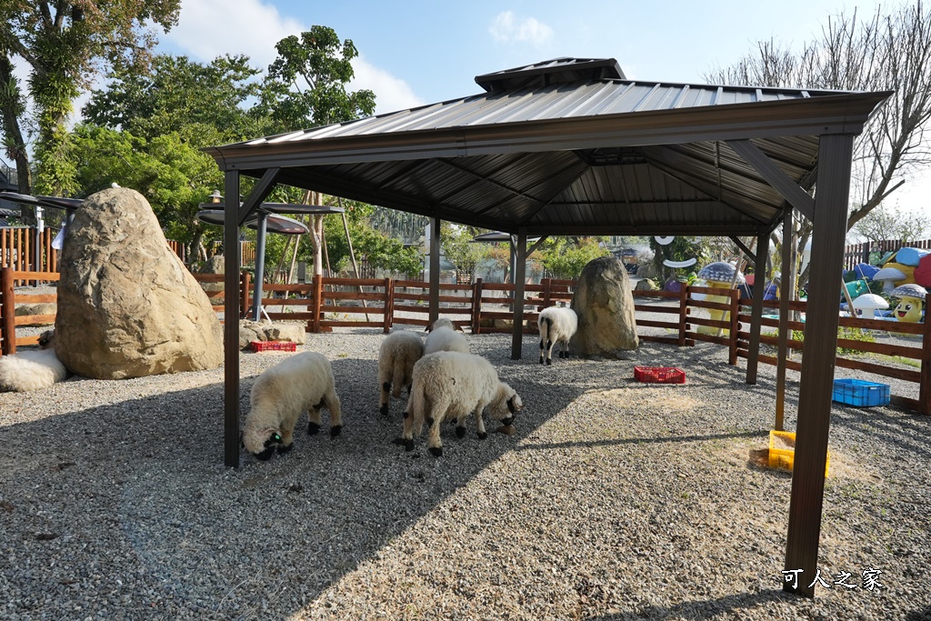
<path id="1" fill-rule="evenodd" d="M 72 194 L 76 170 L 66 126 L 72 101 L 103 68 L 142 66 L 155 45 L 150 24 L 167 31 L 180 9 L 180 0 L 0 0 L 0 112 L 21 192 L 32 192 L 32 182 L 22 131 L 25 95 L 13 74 L 15 62 L 29 68 L 37 133 L 35 187 L 44 194 Z"/>

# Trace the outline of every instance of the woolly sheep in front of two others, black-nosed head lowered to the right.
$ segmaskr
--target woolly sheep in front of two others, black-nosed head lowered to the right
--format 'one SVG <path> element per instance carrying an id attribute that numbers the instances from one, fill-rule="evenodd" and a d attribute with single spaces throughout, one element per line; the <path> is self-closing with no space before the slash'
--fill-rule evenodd
<path id="1" fill-rule="evenodd" d="M 413 366 L 413 385 L 404 412 L 404 448 L 413 450 L 413 437 L 420 436 L 424 421 L 430 425 L 427 447 L 439 457 L 443 454 L 439 427 L 444 420 L 456 419 L 456 436 L 466 435 L 466 416 L 475 415 L 479 439 L 485 439 L 481 412 L 488 406 L 492 420 L 504 425 L 514 421 L 523 408 L 517 392 L 498 379 L 492 363 L 474 354 L 437 352 L 421 358 Z"/>

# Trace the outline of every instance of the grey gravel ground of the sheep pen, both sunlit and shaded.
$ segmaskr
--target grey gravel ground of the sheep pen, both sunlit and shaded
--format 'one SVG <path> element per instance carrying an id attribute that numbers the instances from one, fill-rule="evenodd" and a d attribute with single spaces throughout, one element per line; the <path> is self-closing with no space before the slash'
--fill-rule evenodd
<path id="1" fill-rule="evenodd" d="M 509 335 L 470 336 L 525 409 L 514 436 L 446 429 L 436 459 L 391 443 L 403 404 L 378 413 L 382 338 L 308 335 L 343 435 L 238 469 L 222 370 L 0 394 L 0 618 L 931 618 L 931 421 L 835 404 L 818 564 L 857 588 L 804 600 L 781 591 L 790 477 L 749 460 L 773 367 L 748 386 L 722 347 L 642 344 L 541 368 L 533 337 L 512 361 Z M 241 355 L 244 415 L 286 356 Z M 634 364 L 688 383 L 638 384 Z M 870 568 L 883 587 L 862 586 Z"/>

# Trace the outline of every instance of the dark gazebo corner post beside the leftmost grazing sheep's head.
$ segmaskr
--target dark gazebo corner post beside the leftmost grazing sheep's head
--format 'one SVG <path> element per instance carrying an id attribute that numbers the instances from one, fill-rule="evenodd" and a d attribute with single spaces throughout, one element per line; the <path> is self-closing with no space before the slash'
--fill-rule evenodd
<path id="1" fill-rule="evenodd" d="M 239 171 L 226 170 L 226 196 L 239 196 Z M 231 201 L 232 205 L 236 202 Z M 239 467 L 239 223 L 235 208 L 223 215 L 223 463 Z M 256 280 L 260 280 L 256 277 Z"/>

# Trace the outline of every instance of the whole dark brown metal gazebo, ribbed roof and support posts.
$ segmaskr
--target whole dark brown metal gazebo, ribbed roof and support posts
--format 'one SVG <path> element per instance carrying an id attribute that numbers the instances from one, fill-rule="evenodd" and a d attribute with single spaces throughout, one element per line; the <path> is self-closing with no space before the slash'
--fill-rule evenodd
<path id="1" fill-rule="evenodd" d="M 240 176 L 259 179 L 243 207 L 228 212 L 226 245 L 235 245 L 237 226 L 277 183 L 420 213 L 434 219 L 432 232 L 449 220 L 516 234 L 511 357 L 519 358 L 527 236 L 755 236 L 761 259 L 770 232 L 797 209 L 813 222 L 816 242 L 786 568 L 814 575 L 853 144 L 890 93 L 630 80 L 612 59 L 556 59 L 477 82 L 485 92 L 209 148 L 227 196 L 238 194 Z M 431 248 L 439 267 L 439 233 Z M 238 256 L 226 262 L 232 290 Z M 438 271 L 430 270 L 431 318 L 439 311 Z M 753 296 L 749 384 L 763 280 Z M 235 317 L 235 296 L 226 304 Z M 236 466 L 238 326 L 227 322 L 224 330 L 224 452 L 227 466 Z M 784 588 L 814 594 L 813 586 Z"/>

